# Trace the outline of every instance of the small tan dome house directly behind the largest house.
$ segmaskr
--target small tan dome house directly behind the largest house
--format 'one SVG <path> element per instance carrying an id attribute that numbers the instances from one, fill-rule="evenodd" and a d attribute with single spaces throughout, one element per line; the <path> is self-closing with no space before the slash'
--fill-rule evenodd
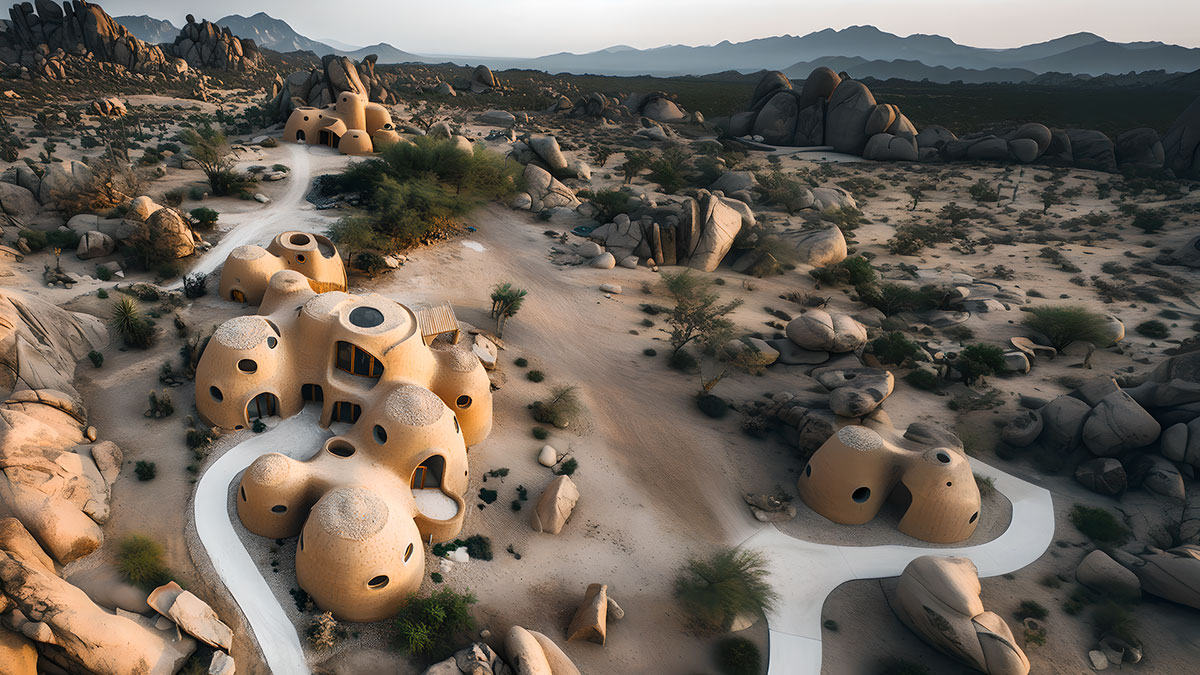
<path id="1" fill-rule="evenodd" d="M 265 249 L 238 246 L 221 268 L 218 293 L 232 303 L 258 305 L 275 276 L 290 269 L 308 280 L 316 293 L 346 291 L 346 265 L 328 237 L 311 232 L 283 232 Z"/>

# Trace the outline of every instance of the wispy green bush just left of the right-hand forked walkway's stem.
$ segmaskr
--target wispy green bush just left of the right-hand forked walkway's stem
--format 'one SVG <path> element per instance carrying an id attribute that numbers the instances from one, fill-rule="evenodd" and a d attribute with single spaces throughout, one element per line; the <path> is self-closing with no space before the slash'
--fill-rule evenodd
<path id="1" fill-rule="evenodd" d="M 740 615 L 769 611 L 778 599 L 763 555 L 731 546 L 690 558 L 676 578 L 674 596 L 697 623 L 722 631 Z"/>

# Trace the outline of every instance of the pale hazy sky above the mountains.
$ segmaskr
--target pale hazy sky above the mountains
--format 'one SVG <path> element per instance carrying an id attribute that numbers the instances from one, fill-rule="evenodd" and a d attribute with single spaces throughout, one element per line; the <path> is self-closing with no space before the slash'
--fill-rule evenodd
<path id="1" fill-rule="evenodd" d="M 1016 47 L 1091 31 L 1200 47 L 1200 0 L 98 0 L 113 14 L 184 23 L 266 12 L 301 35 L 424 54 L 540 56 L 613 44 L 739 42 L 871 24 Z"/>

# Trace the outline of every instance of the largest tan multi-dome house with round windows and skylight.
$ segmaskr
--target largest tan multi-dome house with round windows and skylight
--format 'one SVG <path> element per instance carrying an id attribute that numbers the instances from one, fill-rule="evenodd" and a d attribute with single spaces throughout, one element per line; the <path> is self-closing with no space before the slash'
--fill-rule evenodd
<path id="1" fill-rule="evenodd" d="M 298 581 L 338 619 L 392 616 L 420 587 L 422 542 L 462 528 L 467 447 L 491 431 L 492 395 L 457 336 L 448 305 L 318 294 L 282 270 L 260 313 L 221 324 L 197 368 L 196 407 L 214 426 L 244 429 L 308 404 L 322 426 L 352 425 L 306 461 L 258 458 L 236 496 L 251 532 L 299 534 Z"/>

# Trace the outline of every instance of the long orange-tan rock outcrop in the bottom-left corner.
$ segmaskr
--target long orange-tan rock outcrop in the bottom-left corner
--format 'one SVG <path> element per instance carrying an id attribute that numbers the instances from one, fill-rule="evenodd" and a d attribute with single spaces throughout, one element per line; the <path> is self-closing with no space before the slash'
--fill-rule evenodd
<path id="1" fill-rule="evenodd" d="M 59 668 L 97 675 L 172 675 L 196 649 L 152 620 L 114 615 L 62 580 L 14 519 L 0 520 L 0 622 Z"/>

